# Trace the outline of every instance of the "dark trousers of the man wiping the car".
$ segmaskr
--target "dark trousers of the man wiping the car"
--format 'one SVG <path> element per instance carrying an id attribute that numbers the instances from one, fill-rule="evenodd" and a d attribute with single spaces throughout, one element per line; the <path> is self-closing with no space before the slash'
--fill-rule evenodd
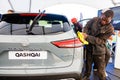
<path id="1" fill-rule="evenodd" d="M 90 77 L 93 63 L 96 65 L 99 80 L 106 80 L 105 55 L 92 55 L 90 53 L 86 53 L 86 70 L 84 76 Z"/>

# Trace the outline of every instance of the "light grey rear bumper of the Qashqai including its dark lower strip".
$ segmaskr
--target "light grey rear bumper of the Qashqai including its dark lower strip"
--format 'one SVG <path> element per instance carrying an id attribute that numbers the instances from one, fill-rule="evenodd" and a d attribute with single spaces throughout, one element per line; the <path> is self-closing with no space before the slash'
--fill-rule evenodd
<path id="1" fill-rule="evenodd" d="M 75 78 L 81 80 L 83 63 L 80 59 L 63 68 L 35 70 L 0 70 L 0 80 L 54 80 Z"/>

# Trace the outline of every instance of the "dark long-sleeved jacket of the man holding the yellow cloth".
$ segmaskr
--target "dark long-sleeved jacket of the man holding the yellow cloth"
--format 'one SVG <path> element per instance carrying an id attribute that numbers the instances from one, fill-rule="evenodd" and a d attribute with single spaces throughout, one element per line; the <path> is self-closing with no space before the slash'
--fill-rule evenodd
<path id="1" fill-rule="evenodd" d="M 100 18 L 95 17 L 87 22 L 83 32 L 88 34 L 86 39 L 89 42 L 89 45 L 86 46 L 87 53 L 102 55 L 106 53 L 106 41 L 113 34 L 114 28 L 112 24 L 102 26 Z"/>

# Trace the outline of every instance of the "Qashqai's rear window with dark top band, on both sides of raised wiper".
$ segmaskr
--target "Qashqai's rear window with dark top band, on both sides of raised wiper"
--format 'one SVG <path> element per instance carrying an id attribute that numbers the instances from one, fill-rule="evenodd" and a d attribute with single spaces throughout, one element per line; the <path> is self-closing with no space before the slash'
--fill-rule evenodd
<path id="1" fill-rule="evenodd" d="M 37 13 L 14 13 L 2 15 L 0 34 L 27 35 Z M 34 35 L 59 34 L 71 29 L 67 18 L 63 15 L 44 14 L 34 24 L 31 32 Z"/>

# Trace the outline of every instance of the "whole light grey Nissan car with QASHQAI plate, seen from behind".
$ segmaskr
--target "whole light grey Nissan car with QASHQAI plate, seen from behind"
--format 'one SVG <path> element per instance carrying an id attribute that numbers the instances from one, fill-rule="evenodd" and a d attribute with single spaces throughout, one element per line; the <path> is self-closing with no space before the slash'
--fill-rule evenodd
<path id="1" fill-rule="evenodd" d="M 3 14 L 0 37 L 0 80 L 81 80 L 83 44 L 65 16 Z"/>

